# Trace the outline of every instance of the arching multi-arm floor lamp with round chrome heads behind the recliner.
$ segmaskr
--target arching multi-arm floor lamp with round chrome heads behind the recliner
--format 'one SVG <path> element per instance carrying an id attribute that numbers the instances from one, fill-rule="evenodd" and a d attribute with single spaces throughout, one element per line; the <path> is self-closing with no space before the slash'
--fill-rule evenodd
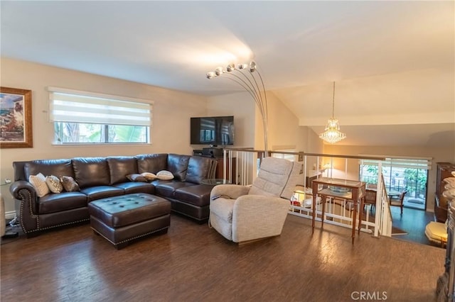
<path id="1" fill-rule="evenodd" d="M 242 86 L 250 94 L 252 99 L 255 100 L 259 108 L 259 113 L 262 116 L 264 155 L 267 157 L 267 95 L 265 94 L 264 81 L 262 81 L 261 74 L 257 70 L 256 62 L 251 61 L 249 64 L 242 63 L 237 65 L 237 67 L 235 64 L 230 64 L 225 69 L 223 67 L 216 67 L 214 72 L 207 72 L 206 76 L 207 79 L 213 79 L 215 77 L 230 79 Z"/>

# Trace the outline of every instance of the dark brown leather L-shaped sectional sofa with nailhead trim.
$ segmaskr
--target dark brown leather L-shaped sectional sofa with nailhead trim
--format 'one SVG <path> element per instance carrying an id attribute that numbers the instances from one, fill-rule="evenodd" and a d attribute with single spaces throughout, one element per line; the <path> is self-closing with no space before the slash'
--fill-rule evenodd
<path id="1" fill-rule="evenodd" d="M 216 161 L 209 157 L 176 154 L 146 154 L 132 157 L 77 157 L 60 160 L 14 162 L 11 194 L 20 203 L 18 215 L 27 237 L 42 230 L 89 220 L 87 205 L 100 198 L 131 193 L 154 194 L 171 201 L 172 210 L 204 222 L 209 216 L 209 196 L 213 186 L 201 184 L 213 178 Z M 130 181 L 129 174 L 172 172 L 172 180 Z M 62 191 L 38 197 L 28 177 L 70 176 L 80 191 Z"/>

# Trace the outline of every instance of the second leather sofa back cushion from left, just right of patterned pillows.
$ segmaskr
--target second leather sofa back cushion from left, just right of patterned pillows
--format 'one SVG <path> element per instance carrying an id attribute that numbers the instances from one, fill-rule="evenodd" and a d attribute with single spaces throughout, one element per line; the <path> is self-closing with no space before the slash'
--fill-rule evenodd
<path id="1" fill-rule="evenodd" d="M 109 167 L 107 160 L 103 157 L 73 158 L 73 169 L 75 181 L 79 184 L 80 189 L 110 184 Z"/>

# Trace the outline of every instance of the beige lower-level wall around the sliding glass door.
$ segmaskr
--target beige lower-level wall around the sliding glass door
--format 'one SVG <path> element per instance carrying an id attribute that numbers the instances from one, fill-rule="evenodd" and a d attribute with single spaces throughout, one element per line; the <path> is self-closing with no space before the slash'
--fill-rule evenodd
<path id="1" fill-rule="evenodd" d="M 388 156 L 409 156 L 409 157 L 432 157 L 432 169 L 428 174 L 427 190 L 427 211 L 434 211 L 434 191 L 436 190 L 436 163 L 454 162 L 454 154 L 451 147 L 363 147 L 363 146 L 342 146 L 324 145 L 324 153 L 333 155 L 388 155 Z M 344 162 L 338 162 L 337 167 L 343 167 Z M 358 177 L 358 160 L 348 161 L 348 176 Z M 336 174 L 333 175 L 336 177 Z M 355 179 L 355 178 L 353 178 Z"/>

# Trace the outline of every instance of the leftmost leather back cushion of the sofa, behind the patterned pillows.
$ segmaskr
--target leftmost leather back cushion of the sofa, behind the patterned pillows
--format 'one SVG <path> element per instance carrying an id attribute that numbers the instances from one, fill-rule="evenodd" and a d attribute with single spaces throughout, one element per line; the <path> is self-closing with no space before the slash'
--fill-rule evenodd
<path id="1" fill-rule="evenodd" d="M 61 177 L 67 175 L 74 177 L 71 160 L 32 160 L 26 162 L 24 169 L 26 179 L 30 175 L 36 175 L 38 173 L 42 173 L 44 176 L 55 175 L 56 177 Z"/>

